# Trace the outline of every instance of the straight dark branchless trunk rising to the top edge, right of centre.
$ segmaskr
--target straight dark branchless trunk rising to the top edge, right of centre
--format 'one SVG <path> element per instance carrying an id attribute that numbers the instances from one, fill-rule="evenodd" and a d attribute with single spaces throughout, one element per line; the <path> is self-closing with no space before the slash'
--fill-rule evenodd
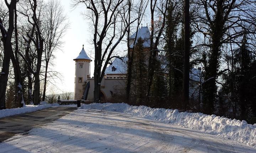
<path id="1" fill-rule="evenodd" d="M 189 100 L 189 72 L 190 72 L 190 1 L 185 0 L 184 11 L 184 69 L 183 69 L 183 109 L 187 110 Z"/>

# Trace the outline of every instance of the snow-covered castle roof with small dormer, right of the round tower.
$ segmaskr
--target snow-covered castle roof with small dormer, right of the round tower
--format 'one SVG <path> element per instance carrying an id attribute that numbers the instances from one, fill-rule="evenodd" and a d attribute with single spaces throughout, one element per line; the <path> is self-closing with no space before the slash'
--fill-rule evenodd
<path id="1" fill-rule="evenodd" d="M 112 65 L 108 66 L 105 70 L 105 74 L 126 74 L 127 73 L 127 61 L 128 57 L 124 57 L 123 61 L 119 58 L 115 58 L 112 61 Z M 112 71 L 112 67 L 116 68 Z"/>

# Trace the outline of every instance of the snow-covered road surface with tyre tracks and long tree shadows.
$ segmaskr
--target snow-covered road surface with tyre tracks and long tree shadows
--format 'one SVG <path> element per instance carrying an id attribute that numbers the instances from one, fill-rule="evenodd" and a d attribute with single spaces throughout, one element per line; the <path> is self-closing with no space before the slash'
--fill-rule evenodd
<path id="1" fill-rule="evenodd" d="M 0 152 L 255 153 L 256 149 L 123 113 L 78 109 L 0 143 Z"/>

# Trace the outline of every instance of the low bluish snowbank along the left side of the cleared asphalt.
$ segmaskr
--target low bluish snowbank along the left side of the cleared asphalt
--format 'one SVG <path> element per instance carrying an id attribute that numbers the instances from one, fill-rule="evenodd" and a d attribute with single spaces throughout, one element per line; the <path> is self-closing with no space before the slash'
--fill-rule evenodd
<path id="1" fill-rule="evenodd" d="M 22 108 L 11 108 L 11 109 L 2 109 L 0 110 L 0 118 L 8 117 L 11 115 L 17 115 L 22 113 L 34 112 L 41 109 L 49 108 L 52 106 L 59 106 L 58 103 L 48 104 L 46 102 L 41 102 L 41 105 L 26 105 L 26 107 Z"/>

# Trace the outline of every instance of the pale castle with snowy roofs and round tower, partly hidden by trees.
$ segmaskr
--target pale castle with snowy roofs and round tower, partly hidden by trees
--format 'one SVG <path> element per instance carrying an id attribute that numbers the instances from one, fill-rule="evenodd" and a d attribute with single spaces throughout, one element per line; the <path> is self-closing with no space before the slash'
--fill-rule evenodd
<path id="1" fill-rule="evenodd" d="M 135 40 L 134 33 L 130 36 L 129 45 L 133 49 L 133 44 L 135 44 L 138 38 L 144 40 L 143 47 L 146 54 L 149 52 L 150 47 L 150 32 L 148 27 L 141 27 L 137 32 L 137 40 Z M 148 55 L 148 54 L 147 54 Z M 148 57 L 146 57 L 147 59 Z M 74 99 L 81 100 L 84 96 L 85 100 L 92 101 L 94 99 L 94 77 L 90 76 L 90 62 L 92 61 L 86 54 L 84 50 L 84 45 L 79 53 L 78 57 L 74 59 L 75 61 L 75 90 L 74 90 Z M 127 61 L 128 57 L 124 57 L 122 60 L 115 58 L 112 61 L 112 65 L 109 65 L 105 70 L 105 76 L 101 81 L 101 91 L 100 99 L 107 100 L 115 93 L 122 94 L 126 86 L 126 74 L 127 74 Z M 147 62 L 147 60 L 146 60 Z M 192 69 L 190 73 L 190 81 L 198 84 L 201 81 L 201 70 Z M 191 84 L 191 83 L 190 83 Z M 193 85 L 193 84 L 191 84 Z M 191 87 L 191 89 L 193 89 Z M 190 90 L 190 95 L 192 95 L 194 90 Z M 198 93 L 198 92 L 197 92 Z"/>

